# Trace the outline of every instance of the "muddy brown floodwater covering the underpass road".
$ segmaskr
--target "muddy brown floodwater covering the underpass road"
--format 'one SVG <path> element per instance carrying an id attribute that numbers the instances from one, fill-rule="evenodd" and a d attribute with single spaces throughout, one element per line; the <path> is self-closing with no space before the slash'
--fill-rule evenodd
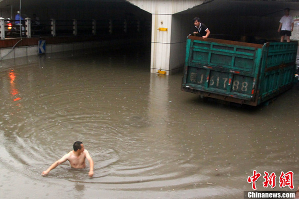
<path id="1" fill-rule="evenodd" d="M 299 185 L 299 85 L 256 108 L 180 90 L 149 52 L 68 52 L 0 62 L 0 198 L 241 199 L 256 170 Z M 94 176 L 63 163 L 82 141 Z M 270 185 L 269 185 L 270 187 Z"/>

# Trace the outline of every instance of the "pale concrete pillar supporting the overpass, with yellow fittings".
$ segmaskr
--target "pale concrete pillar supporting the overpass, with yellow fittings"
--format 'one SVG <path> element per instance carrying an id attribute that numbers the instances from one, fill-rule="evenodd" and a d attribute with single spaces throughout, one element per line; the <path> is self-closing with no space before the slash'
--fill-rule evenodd
<path id="1" fill-rule="evenodd" d="M 183 67 L 187 35 L 173 15 L 202 4 L 205 0 L 127 0 L 152 14 L 150 72 L 169 75 Z M 191 21 L 191 19 L 190 19 Z"/>

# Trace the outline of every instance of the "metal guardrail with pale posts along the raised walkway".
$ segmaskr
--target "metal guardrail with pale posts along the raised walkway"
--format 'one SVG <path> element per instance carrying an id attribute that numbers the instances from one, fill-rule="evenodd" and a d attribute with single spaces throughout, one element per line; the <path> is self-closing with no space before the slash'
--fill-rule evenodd
<path id="1" fill-rule="evenodd" d="M 0 39 L 7 37 L 35 37 L 58 35 L 99 35 L 130 34 L 150 31 L 151 21 L 141 20 L 39 20 L 32 23 L 30 18 L 20 21 L 0 17 Z"/>

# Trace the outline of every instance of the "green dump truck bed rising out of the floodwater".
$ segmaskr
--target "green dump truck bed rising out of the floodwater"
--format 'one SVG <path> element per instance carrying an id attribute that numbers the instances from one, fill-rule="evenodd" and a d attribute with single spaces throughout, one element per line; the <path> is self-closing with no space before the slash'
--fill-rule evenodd
<path id="1" fill-rule="evenodd" d="M 294 84 L 297 46 L 188 36 L 181 90 L 257 106 Z"/>

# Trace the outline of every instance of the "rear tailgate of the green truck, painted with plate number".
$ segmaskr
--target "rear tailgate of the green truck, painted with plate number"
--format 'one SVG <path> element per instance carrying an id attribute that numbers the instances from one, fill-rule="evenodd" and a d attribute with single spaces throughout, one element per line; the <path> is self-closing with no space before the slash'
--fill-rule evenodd
<path id="1" fill-rule="evenodd" d="M 217 41 L 187 42 L 185 86 L 241 100 L 253 100 L 262 45 L 241 46 Z"/>

